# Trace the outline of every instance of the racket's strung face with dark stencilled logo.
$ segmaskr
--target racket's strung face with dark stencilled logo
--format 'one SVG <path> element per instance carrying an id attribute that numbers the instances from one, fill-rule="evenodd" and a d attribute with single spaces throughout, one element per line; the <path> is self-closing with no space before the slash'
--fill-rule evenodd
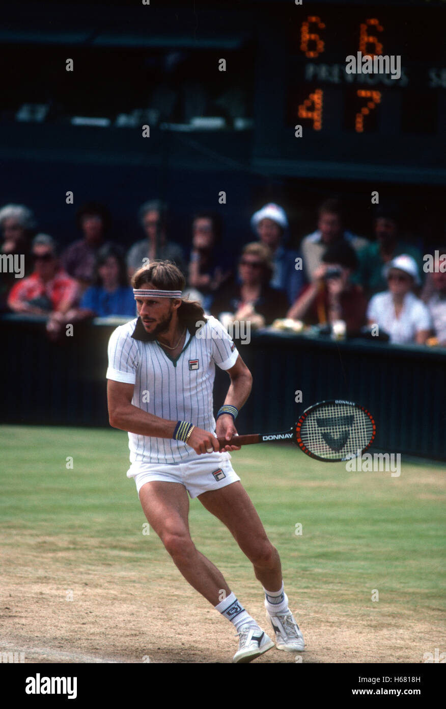
<path id="1" fill-rule="evenodd" d="M 309 452 L 327 460 L 357 455 L 368 447 L 373 435 L 370 416 L 348 403 L 328 403 L 310 411 L 300 430 Z"/>

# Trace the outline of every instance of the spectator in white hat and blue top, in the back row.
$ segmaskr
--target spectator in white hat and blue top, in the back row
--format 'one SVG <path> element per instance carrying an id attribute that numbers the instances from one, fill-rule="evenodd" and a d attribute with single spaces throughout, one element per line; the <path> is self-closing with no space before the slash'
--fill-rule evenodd
<path id="1" fill-rule="evenodd" d="M 283 245 L 288 228 L 285 211 L 278 204 L 265 204 L 253 214 L 251 227 L 273 255 L 270 286 L 285 291 L 288 303 L 293 303 L 305 281 L 302 269 L 296 269 L 299 252 L 285 249 Z"/>

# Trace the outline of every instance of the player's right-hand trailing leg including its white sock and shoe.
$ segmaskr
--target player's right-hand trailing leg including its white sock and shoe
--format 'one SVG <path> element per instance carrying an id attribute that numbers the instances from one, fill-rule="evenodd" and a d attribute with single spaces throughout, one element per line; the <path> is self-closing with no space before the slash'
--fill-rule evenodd
<path id="1" fill-rule="evenodd" d="M 261 519 L 240 482 L 198 496 L 207 510 L 224 523 L 242 552 L 250 559 L 265 592 L 265 609 L 276 635 L 278 649 L 297 652 L 304 638 L 288 608 L 277 549 L 266 535 Z"/>

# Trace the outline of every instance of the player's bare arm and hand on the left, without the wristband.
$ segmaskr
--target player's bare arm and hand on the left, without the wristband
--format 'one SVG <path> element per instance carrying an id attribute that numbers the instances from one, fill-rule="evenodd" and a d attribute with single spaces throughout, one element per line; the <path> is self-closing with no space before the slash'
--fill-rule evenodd
<path id="1" fill-rule="evenodd" d="M 142 436 L 173 438 L 177 421 L 160 418 L 133 406 L 134 389 L 135 384 L 125 384 L 122 381 L 108 379 L 107 399 L 110 426 Z M 209 449 L 219 450 L 217 438 L 212 433 L 196 426 L 190 435 L 188 445 L 198 454 L 205 453 Z"/>

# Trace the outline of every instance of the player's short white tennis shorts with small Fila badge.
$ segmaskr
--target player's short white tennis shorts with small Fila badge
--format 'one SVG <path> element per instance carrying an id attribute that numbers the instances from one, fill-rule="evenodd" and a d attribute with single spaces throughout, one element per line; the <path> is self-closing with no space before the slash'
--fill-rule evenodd
<path id="1" fill-rule="evenodd" d="M 158 480 L 180 483 L 185 486 L 190 498 L 202 492 L 218 490 L 240 480 L 231 465 L 229 453 L 203 453 L 185 463 L 132 463 L 127 470 L 127 478 L 133 478 L 137 492 L 145 483 Z"/>

